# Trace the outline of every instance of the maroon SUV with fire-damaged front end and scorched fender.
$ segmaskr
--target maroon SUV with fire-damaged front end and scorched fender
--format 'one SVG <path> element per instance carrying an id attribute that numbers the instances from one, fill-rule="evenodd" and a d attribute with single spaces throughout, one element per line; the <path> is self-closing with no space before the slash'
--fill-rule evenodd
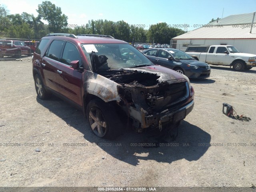
<path id="1" fill-rule="evenodd" d="M 186 76 L 111 36 L 48 34 L 32 63 L 38 98 L 54 93 L 70 101 L 101 138 L 118 136 L 124 122 L 138 132 L 178 126 L 194 106 Z"/>

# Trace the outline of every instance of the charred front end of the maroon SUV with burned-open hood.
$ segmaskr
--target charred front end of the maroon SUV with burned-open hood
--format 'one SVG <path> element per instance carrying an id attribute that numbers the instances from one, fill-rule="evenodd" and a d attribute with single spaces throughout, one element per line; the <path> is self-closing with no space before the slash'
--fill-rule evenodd
<path id="1" fill-rule="evenodd" d="M 118 83 L 118 104 L 138 132 L 179 124 L 194 106 L 194 90 L 188 78 L 177 79 L 150 69 L 124 70 L 105 77 Z"/>

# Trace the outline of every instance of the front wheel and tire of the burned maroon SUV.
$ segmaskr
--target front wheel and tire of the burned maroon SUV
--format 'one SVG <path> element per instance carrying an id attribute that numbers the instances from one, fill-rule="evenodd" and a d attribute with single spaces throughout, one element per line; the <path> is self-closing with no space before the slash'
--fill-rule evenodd
<path id="1" fill-rule="evenodd" d="M 91 100 L 86 108 L 86 118 L 92 132 L 105 139 L 115 139 L 121 134 L 122 125 L 112 105 L 100 99 Z"/>

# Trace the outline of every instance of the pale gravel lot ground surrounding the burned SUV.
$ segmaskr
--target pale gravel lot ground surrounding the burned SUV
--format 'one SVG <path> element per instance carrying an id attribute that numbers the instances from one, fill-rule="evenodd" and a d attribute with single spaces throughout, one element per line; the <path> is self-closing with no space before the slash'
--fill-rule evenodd
<path id="1" fill-rule="evenodd" d="M 149 132 L 102 140 L 76 108 L 37 99 L 29 58 L 0 61 L 0 186 L 256 185 L 256 68 L 212 66 L 191 82 L 195 106 L 176 140 L 143 148 Z M 223 102 L 252 120 L 225 116 Z"/>

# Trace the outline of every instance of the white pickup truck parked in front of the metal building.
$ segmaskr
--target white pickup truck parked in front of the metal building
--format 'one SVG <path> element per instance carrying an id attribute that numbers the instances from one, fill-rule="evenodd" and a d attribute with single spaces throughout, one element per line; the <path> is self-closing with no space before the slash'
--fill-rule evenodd
<path id="1" fill-rule="evenodd" d="M 196 60 L 212 65 L 233 66 L 236 71 L 249 70 L 256 66 L 256 55 L 240 53 L 230 45 L 191 45 L 185 52 Z"/>

